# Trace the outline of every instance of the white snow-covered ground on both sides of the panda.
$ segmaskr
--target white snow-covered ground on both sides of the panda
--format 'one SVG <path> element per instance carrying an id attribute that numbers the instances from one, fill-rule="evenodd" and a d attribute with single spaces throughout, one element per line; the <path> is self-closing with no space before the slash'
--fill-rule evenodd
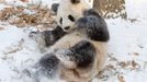
<path id="1" fill-rule="evenodd" d="M 14 0 L 7 1 L 13 3 Z M 42 1 L 48 4 L 56 2 Z M 21 2 L 15 4 L 25 5 Z M 7 7 L 0 3 L 0 10 Z M 100 79 L 93 82 L 146 82 L 147 1 L 126 0 L 126 10 L 132 21 L 106 20 L 111 33 L 109 58 Z M 0 22 L 0 82 L 29 82 L 24 81 L 22 70 L 43 56 L 36 43 L 27 37 L 29 33 L 29 27 Z"/>

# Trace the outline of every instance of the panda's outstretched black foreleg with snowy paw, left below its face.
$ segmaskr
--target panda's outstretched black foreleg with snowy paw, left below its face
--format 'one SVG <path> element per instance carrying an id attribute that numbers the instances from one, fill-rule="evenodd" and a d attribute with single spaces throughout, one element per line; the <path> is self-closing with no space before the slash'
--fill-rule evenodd
<path id="1" fill-rule="evenodd" d="M 31 32 L 29 36 L 36 40 L 41 46 L 43 45 L 44 47 L 49 47 L 65 34 L 66 33 L 63 31 L 63 28 L 60 26 L 57 26 L 53 31 Z"/>

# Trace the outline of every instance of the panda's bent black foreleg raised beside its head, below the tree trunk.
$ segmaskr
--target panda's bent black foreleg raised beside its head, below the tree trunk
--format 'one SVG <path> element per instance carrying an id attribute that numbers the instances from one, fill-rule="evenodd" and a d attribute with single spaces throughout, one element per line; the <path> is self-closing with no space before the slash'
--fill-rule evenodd
<path id="1" fill-rule="evenodd" d="M 93 40 L 108 42 L 110 39 L 110 34 L 105 21 L 94 12 L 91 14 L 94 15 L 80 17 L 76 22 L 76 28 L 83 32 L 86 35 L 88 35 L 89 38 Z"/>

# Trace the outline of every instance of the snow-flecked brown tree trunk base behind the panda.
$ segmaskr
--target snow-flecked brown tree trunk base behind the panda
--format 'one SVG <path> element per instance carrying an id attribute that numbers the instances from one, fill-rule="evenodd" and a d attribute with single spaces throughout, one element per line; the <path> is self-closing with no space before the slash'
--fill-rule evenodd
<path id="1" fill-rule="evenodd" d="M 125 0 L 94 0 L 93 8 L 105 19 L 127 19 Z"/>

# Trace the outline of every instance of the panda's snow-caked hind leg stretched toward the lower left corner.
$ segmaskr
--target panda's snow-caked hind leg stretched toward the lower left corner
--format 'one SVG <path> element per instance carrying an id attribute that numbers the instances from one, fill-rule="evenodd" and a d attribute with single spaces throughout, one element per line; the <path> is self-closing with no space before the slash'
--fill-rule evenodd
<path id="1" fill-rule="evenodd" d="M 59 65 L 60 62 L 54 54 L 47 54 L 34 67 L 27 68 L 23 72 L 35 82 L 39 82 L 43 78 L 54 79 L 57 75 Z"/>

